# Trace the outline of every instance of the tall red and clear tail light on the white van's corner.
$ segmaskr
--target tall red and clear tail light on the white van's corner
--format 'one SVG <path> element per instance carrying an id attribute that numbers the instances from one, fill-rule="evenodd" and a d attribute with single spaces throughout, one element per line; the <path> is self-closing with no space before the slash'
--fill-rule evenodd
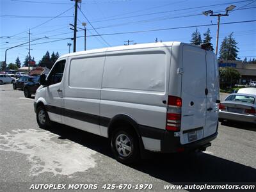
<path id="1" fill-rule="evenodd" d="M 166 130 L 180 131 L 181 106 L 182 100 L 180 97 L 168 96 Z"/>

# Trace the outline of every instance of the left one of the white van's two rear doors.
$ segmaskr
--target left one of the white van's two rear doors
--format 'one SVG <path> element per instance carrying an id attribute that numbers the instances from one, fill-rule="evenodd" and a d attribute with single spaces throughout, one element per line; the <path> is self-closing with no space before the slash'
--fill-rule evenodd
<path id="1" fill-rule="evenodd" d="M 207 111 L 206 52 L 200 47 L 183 45 L 182 108 L 180 143 L 204 138 Z"/>

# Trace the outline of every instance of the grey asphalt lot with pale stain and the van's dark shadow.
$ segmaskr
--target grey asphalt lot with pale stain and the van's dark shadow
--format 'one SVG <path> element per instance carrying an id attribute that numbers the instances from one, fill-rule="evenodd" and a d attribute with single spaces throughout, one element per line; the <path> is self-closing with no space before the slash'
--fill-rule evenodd
<path id="1" fill-rule="evenodd" d="M 60 124 L 40 129 L 33 99 L 12 84 L 0 85 L 0 106 L 0 191 L 29 191 L 31 184 L 152 184 L 164 191 L 164 184 L 179 182 L 256 182 L 253 124 L 220 124 L 218 138 L 196 156 L 154 154 L 126 166 L 115 161 L 106 138 Z"/>

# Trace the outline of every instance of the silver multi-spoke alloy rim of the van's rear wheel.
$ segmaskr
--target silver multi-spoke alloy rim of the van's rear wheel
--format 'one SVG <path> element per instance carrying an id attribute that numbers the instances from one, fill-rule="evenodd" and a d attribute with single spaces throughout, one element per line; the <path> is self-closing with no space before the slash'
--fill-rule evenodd
<path id="1" fill-rule="evenodd" d="M 122 157 L 127 157 L 132 152 L 132 143 L 128 136 L 125 134 L 119 134 L 116 137 L 116 150 Z"/>

